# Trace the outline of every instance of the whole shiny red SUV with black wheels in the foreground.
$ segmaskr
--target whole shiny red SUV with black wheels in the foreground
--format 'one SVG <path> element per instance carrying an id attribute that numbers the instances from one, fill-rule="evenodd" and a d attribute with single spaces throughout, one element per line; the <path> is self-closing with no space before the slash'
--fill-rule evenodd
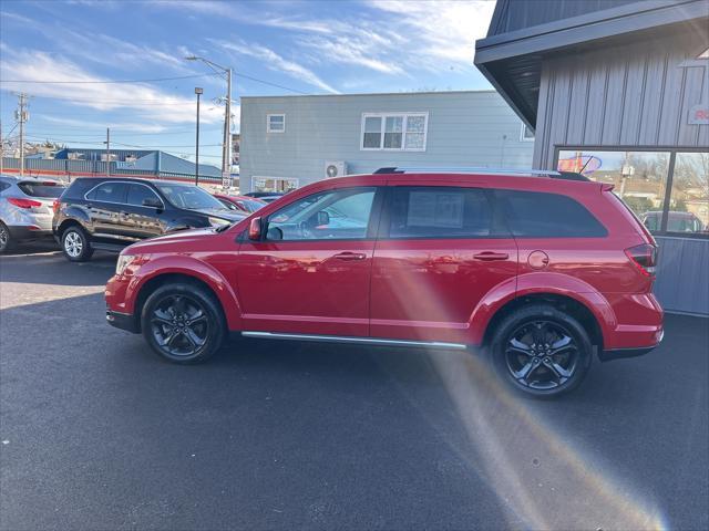
<path id="1" fill-rule="evenodd" d="M 567 174 L 328 179 L 232 226 L 126 248 L 107 320 L 176 363 L 248 337 L 485 347 L 499 375 L 558 395 L 651 351 L 657 247 L 610 190 Z"/>

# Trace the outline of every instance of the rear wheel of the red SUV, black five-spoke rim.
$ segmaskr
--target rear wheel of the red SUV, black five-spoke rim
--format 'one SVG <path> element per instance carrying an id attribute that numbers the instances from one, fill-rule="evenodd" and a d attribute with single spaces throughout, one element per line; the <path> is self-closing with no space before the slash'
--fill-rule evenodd
<path id="1" fill-rule="evenodd" d="M 576 319 L 548 304 L 532 304 L 500 323 L 490 352 L 503 382 L 526 396 L 544 398 L 568 393 L 583 382 L 593 346 Z"/>

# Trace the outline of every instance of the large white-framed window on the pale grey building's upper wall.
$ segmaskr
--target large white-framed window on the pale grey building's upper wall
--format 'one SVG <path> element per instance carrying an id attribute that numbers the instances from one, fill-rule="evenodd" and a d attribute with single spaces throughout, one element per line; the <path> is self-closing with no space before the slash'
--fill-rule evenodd
<path id="1" fill-rule="evenodd" d="M 428 113 L 362 115 L 361 149 L 424 152 Z"/>

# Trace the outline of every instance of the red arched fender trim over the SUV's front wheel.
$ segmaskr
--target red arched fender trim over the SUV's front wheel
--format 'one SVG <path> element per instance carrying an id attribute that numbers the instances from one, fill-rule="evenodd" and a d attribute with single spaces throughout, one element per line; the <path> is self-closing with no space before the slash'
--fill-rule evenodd
<path id="1" fill-rule="evenodd" d="M 240 330 L 242 306 L 229 282 L 217 269 L 189 256 L 166 254 L 153 257 L 148 262 L 141 266 L 126 288 L 125 311 L 134 313 L 141 290 L 151 280 L 165 274 L 183 274 L 207 284 L 222 304 L 228 329 Z"/>

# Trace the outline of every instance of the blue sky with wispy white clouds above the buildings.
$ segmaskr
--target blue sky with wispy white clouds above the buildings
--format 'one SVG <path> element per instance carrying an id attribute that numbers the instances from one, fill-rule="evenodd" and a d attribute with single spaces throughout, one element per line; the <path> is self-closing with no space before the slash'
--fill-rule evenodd
<path id="1" fill-rule="evenodd" d="M 25 92 L 30 142 L 103 147 L 111 127 L 116 148 L 194 159 L 201 86 L 201 163 L 219 166 L 226 83 L 185 56 L 234 69 L 238 133 L 240 96 L 491 88 L 473 58 L 493 9 L 494 0 L 2 0 L 2 134 Z"/>

